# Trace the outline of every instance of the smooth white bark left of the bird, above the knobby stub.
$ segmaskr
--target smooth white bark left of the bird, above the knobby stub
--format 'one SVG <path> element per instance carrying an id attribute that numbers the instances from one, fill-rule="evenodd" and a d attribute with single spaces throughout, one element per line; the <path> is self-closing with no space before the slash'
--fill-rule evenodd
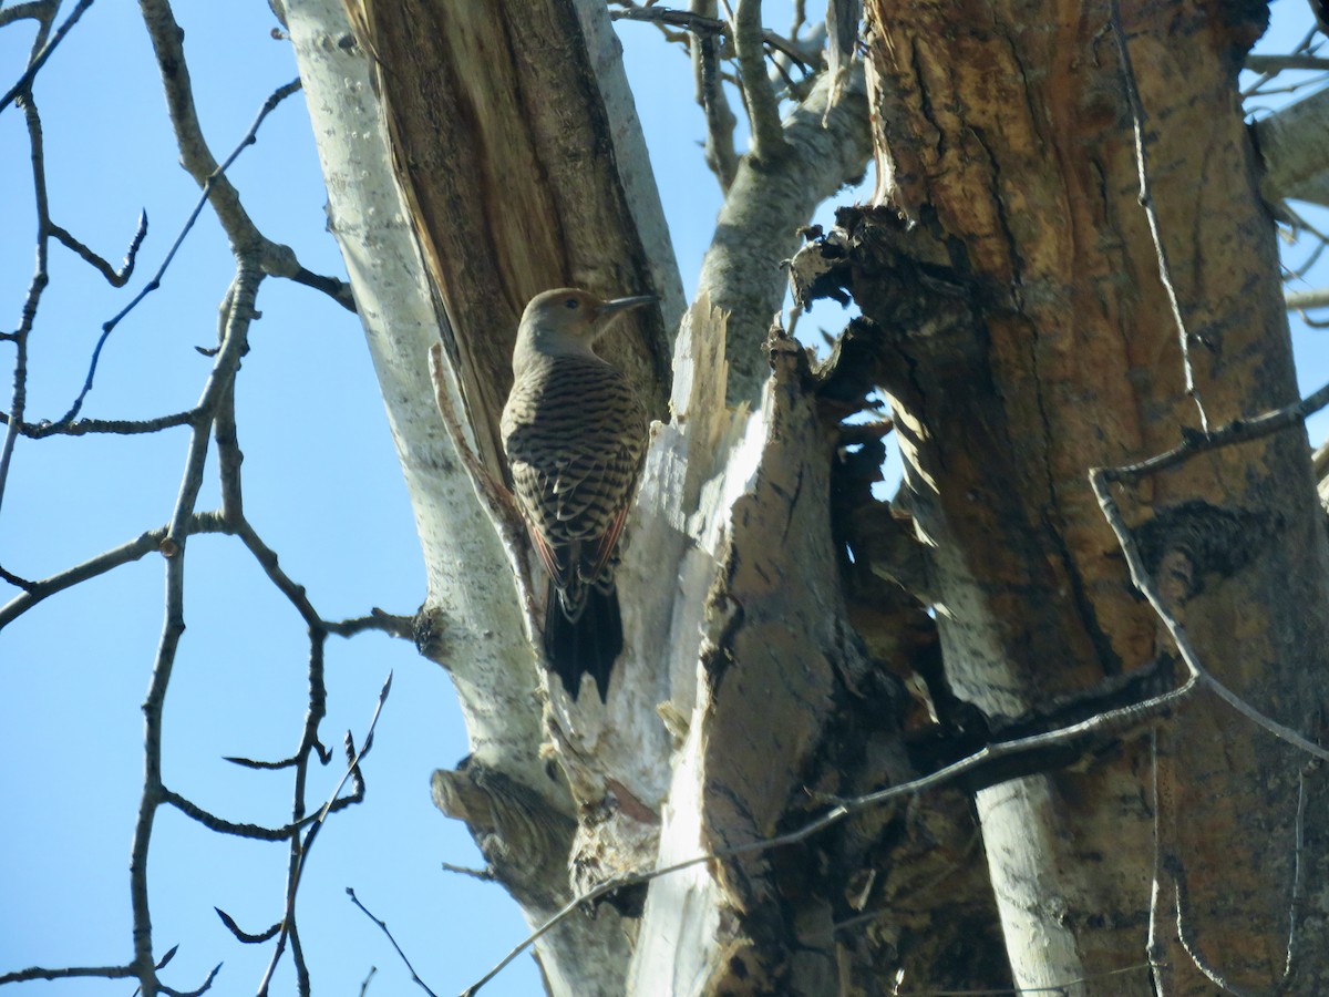
<path id="1" fill-rule="evenodd" d="M 287 27 L 319 160 L 328 215 L 342 246 L 373 358 L 436 608 L 476 756 L 540 775 L 536 673 L 512 573 L 485 509 L 444 429 L 429 380 L 439 342 L 415 234 L 392 173 L 367 53 L 336 0 L 291 0 Z M 455 397 L 455 408 L 462 409 Z"/>

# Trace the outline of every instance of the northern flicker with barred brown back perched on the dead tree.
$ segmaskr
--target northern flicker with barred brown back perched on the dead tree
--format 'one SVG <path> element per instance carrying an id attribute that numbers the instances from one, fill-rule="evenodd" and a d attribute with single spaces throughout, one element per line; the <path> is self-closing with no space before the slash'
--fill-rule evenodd
<path id="1" fill-rule="evenodd" d="M 603 702 L 623 649 L 615 548 L 646 455 L 633 386 L 591 348 L 614 318 L 655 300 L 561 287 L 521 316 L 502 445 L 532 542 L 549 573 L 545 655 L 575 699 L 590 673 Z"/>

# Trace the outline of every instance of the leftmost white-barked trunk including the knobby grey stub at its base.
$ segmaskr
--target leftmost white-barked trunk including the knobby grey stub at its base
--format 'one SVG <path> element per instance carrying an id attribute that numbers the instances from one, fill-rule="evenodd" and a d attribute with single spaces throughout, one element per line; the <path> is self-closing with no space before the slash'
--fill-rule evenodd
<path id="1" fill-rule="evenodd" d="M 573 807 L 566 786 L 549 778 L 541 758 L 545 730 L 528 621 L 489 513 L 435 404 L 428 354 L 441 319 L 395 181 L 369 61 L 354 44 L 338 0 L 291 0 L 286 21 L 318 138 L 331 227 L 415 509 L 429 584 L 421 617 L 436 642 L 431 657 L 448 665 L 472 746 L 462 776 L 449 782 L 443 776 L 455 774 L 436 774 L 435 798 L 469 804 L 468 823 L 482 847 L 488 835 L 500 856 L 528 865 L 534 881 L 526 884 L 522 908 L 534 927 L 567 899 L 562 856 Z M 449 389 L 455 411 L 462 411 Z M 489 848 L 485 853 L 496 861 Z M 626 940 L 618 919 L 606 912 L 595 921 L 565 923 L 541 940 L 538 957 L 554 993 L 615 994 Z"/>

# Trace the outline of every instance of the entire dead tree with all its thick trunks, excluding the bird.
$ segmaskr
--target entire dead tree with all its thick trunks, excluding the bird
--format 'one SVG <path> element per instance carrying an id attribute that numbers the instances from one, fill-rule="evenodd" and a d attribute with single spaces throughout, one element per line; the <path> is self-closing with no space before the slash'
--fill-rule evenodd
<path id="1" fill-rule="evenodd" d="M 740 61 L 754 7 L 727 28 Z M 356 0 L 352 29 L 328 0 L 287 0 L 429 566 L 421 649 L 453 675 L 474 747 L 436 774 L 437 802 L 532 924 L 621 872 L 747 849 L 561 921 L 538 945 L 553 993 L 882 993 L 900 973 L 999 988 L 1007 953 L 1022 986 L 1144 993 L 1151 960 L 1168 993 L 1213 976 L 1268 989 L 1293 896 L 1288 986 L 1325 984 L 1329 832 L 1300 818 L 1322 807 L 1318 776 L 1205 694 L 1154 739 L 975 766 L 763 845 L 837 799 L 1179 683 L 1087 472 L 1166 449 L 1197 401 L 1216 427 L 1292 397 L 1233 90 L 1259 25 L 1220 3 L 1128 4 L 1119 29 L 1107 3 L 1034 7 L 869 5 L 877 203 L 813 247 L 833 257 L 819 287 L 847 284 L 868 320 L 816 367 L 780 330 L 751 362 L 779 291 L 747 265 L 779 255 L 816 185 L 861 169 L 852 81 L 823 76 L 783 124 L 748 93 L 759 141 L 670 358 L 682 300 L 598 3 Z M 1162 251 L 1136 202 L 1136 118 Z M 516 318 L 565 283 L 664 304 L 615 351 L 662 423 L 603 709 L 545 681 L 513 581 L 529 552 L 433 415 L 437 387 L 465 407 L 480 477 L 501 480 Z M 439 330 L 448 375 L 431 384 Z M 726 405 L 767 371 L 751 412 Z M 878 387 L 906 453 L 894 509 L 869 491 L 885 427 L 845 423 Z M 1314 736 L 1329 576 L 1304 433 L 1118 496 L 1205 666 Z M 1087 764 L 1045 774 L 1071 759 Z M 982 844 L 962 790 L 979 791 Z"/>

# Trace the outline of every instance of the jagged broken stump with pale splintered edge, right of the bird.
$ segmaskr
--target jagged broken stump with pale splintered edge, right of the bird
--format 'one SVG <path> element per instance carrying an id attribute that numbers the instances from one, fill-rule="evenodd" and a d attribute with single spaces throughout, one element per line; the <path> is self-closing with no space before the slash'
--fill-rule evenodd
<path id="1" fill-rule="evenodd" d="M 691 391 L 675 392 L 675 409 L 687 415 L 667 429 L 680 421 L 700 439 L 691 453 L 667 435 L 653 448 L 682 461 L 704 455 L 706 439 L 730 440 L 702 465 L 722 473 L 700 489 L 686 481 L 674 489 L 696 545 L 684 564 L 702 558 L 714 582 L 700 671 L 675 670 L 672 682 L 680 743 L 662 807 L 661 864 L 769 839 L 808 823 L 829 799 L 910 778 L 916 762 L 902 738 L 910 698 L 897 675 L 913 674 L 914 658 L 934 647 L 917 602 L 874 601 L 882 593 L 872 578 L 847 585 L 853 572 L 840 512 L 864 481 L 845 471 L 847 443 L 861 433 L 840 420 L 861 411 L 873 384 L 870 344 L 813 371 L 801 347 L 773 335 L 775 376 L 762 407 L 708 431 L 724 396 L 723 376 L 712 374 L 723 338 L 708 311 L 704 300 L 694 306 L 679 338 L 676 383 Z M 647 488 L 661 480 L 647 469 Z M 682 594 L 695 597 L 695 576 L 684 582 L 692 584 Z M 691 622 L 692 600 L 682 605 Z M 686 631 L 675 627 L 675 639 Z M 629 992 L 877 993 L 897 970 L 913 986 L 1009 985 L 979 855 L 968 799 L 944 794 L 655 880 Z M 930 892 L 938 884 L 941 899 Z"/>

